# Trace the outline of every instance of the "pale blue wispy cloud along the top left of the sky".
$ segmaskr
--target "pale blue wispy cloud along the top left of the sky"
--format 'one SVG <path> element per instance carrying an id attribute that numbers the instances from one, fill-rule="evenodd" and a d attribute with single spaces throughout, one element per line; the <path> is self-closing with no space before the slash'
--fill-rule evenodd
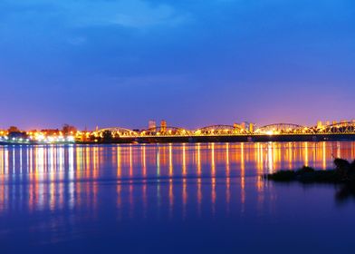
<path id="1" fill-rule="evenodd" d="M 5 0 L 2 5 L 10 6 L 8 10 L 13 13 L 47 15 L 73 26 L 141 28 L 159 24 L 176 25 L 186 20 L 186 16 L 178 14 L 171 5 L 153 5 L 143 0 Z"/>

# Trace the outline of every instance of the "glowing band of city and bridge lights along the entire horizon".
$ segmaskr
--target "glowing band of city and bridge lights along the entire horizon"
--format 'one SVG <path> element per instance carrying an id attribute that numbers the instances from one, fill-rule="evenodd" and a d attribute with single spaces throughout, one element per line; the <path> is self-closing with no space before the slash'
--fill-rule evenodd
<path id="1" fill-rule="evenodd" d="M 152 127 L 154 126 L 154 127 Z M 255 128 L 256 126 L 256 128 Z M 56 144 L 56 143 L 105 143 L 105 142 L 164 142 L 164 139 L 171 138 L 191 138 L 188 142 L 194 142 L 194 138 L 202 137 L 199 141 L 209 142 L 209 137 L 241 137 L 240 140 L 231 141 L 258 141 L 264 137 L 269 140 L 275 137 L 289 136 L 297 137 L 312 136 L 313 140 L 321 137 L 320 140 L 326 140 L 327 135 L 354 135 L 355 138 L 355 121 L 329 122 L 322 124 L 317 122 L 314 126 L 302 126 L 293 123 L 275 123 L 257 127 L 254 123 L 242 122 L 233 125 L 211 125 L 197 130 L 187 130 L 185 128 L 171 127 L 167 122 L 162 122 L 161 126 L 153 125 L 149 122 L 149 129 L 146 130 L 130 130 L 126 128 L 114 127 L 105 129 L 96 129 L 95 131 L 76 131 L 70 126 L 69 129 L 75 130 L 66 132 L 62 130 L 43 130 L 29 132 L 11 132 L 0 131 L 1 143 L 30 143 L 30 144 Z M 15 128 L 17 130 L 17 128 Z M 248 139 L 242 139 L 248 137 Z M 153 138 L 152 140 L 147 140 Z M 344 138 L 344 137 L 342 137 Z M 180 140 L 181 141 L 181 140 Z M 212 141 L 212 140 L 211 140 Z M 215 140 L 216 142 L 218 140 Z M 228 140 L 225 140 L 228 141 Z M 174 140 L 170 140 L 174 142 Z"/>

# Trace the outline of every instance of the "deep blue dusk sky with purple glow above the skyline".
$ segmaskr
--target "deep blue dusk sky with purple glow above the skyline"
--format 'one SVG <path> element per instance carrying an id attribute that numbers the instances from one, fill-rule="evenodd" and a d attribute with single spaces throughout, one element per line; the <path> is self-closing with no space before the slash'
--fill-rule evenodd
<path id="1" fill-rule="evenodd" d="M 0 128 L 355 118 L 353 0 L 1 0 Z"/>

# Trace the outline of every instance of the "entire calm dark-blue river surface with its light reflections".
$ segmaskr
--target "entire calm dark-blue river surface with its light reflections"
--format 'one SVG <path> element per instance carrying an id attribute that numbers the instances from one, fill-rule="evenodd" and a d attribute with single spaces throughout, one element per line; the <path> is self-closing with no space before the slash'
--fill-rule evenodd
<path id="1" fill-rule="evenodd" d="M 355 202 L 265 172 L 355 142 L 0 147 L 1 253 L 353 253 Z"/>

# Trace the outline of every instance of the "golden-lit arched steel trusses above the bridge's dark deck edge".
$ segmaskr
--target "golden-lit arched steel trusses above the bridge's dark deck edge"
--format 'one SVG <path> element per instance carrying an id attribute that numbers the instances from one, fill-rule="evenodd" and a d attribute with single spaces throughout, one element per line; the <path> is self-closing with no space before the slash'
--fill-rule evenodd
<path id="1" fill-rule="evenodd" d="M 218 136 L 283 136 L 283 135 L 355 135 L 355 122 L 339 122 L 323 126 L 302 126 L 293 123 L 273 123 L 255 129 L 253 132 L 240 126 L 211 125 L 197 130 L 179 127 L 157 127 L 143 131 L 126 128 L 107 128 L 93 132 L 95 137 L 110 133 L 113 138 L 164 138 L 164 137 L 218 137 Z"/>

